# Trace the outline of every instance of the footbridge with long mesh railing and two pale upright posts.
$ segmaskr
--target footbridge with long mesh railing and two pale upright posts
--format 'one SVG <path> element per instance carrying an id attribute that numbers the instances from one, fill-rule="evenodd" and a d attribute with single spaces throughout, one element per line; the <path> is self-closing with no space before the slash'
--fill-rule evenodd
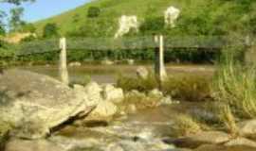
<path id="1" fill-rule="evenodd" d="M 255 42 L 248 37 L 229 37 L 229 36 L 211 36 L 211 37 L 164 37 L 146 36 L 146 37 L 123 37 L 114 38 L 62 38 L 23 42 L 18 46 L 16 56 L 26 56 L 33 54 L 42 54 L 48 52 L 60 52 L 60 71 L 62 79 L 68 83 L 68 73 L 66 67 L 67 50 L 132 50 L 132 49 L 155 49 L 155 75 L 161 80 L 164 79 L 164 49 L 168 48 L 204 48 L 213 51 L 227 46 L 251 46 Z M 190 49 L 188 49 L 190 50 Z"/>

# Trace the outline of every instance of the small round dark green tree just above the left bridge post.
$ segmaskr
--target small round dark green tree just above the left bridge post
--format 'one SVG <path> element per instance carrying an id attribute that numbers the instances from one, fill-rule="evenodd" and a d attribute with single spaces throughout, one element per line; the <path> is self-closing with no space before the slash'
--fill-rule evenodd
<path id="1" fill-rule="evenodd" d="M 44 38 L 53 38 L 58 36 L 58 26 L 54 23 L 48 23 L 44 27 L 43 37 Z"/>

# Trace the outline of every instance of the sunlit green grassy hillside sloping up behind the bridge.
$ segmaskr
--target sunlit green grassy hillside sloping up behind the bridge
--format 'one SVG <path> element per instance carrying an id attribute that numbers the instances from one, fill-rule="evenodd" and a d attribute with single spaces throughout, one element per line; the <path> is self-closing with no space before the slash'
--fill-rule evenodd
<path id="1" fill-rule="evenodd" d="M 41 34 L 46 24 L 54 23 L 62 35 L 107 37 L 115 34 L 121 15 L 137 15 L 142 26 L 138 34 L 244 34 L 256 31 L 255 4 L 254 0 L 95 0 L 35 25 Z M 164 10 L 170 6 L 181 9 L 172 29 L 164 28 L 162 23 Z M 88 17 L 92 7 L 100 8 L 99 16 Z"/>

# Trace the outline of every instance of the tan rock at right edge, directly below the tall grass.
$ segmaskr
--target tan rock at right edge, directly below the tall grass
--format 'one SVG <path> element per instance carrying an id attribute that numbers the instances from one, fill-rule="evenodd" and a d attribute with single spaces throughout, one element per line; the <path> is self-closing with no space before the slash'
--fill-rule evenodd
<path id="1" fill-rule="evenodd" d="M 238 124 L 239 132 L 243 136 L 251 136 L 256 134 L 256 120 L 249 120 Z"/>

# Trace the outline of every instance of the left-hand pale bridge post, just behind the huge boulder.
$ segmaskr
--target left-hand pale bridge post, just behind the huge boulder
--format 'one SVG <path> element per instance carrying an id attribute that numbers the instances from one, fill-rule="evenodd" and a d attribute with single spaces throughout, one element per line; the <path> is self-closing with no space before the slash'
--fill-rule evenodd
<path id="1" fill-rule="evenodd" d="M 67 65 L 66 65 L 66 40 L 65 38 L 60 39 L 60 64 L 59 64 L 59 71 L 60 71 L 60 77 L 62 82 L 64 84 L 68 85 L 69 78 L 68 78 L 68 71 L 67 71 Z"/>

